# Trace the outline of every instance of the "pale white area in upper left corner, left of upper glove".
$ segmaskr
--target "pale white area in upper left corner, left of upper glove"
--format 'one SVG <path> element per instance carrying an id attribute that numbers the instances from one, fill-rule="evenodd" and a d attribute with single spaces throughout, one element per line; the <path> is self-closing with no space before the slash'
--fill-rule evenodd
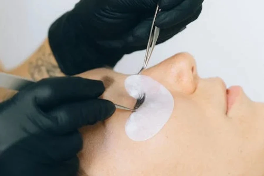
<path id="1" fill-rule="evenodd" d="M 0 59 L 6 68 L 25 60 L 51 23 L 78 0 L 0 0 Z"/>

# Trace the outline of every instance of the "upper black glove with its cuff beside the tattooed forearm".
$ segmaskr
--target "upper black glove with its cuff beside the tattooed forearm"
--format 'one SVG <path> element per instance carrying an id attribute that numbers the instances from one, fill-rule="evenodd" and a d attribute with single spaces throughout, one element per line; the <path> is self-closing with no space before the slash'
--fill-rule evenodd
<path id="1" fill-rule="evenodd" d="M 124 54 L 147 47 L 154 12 L 158 43 L 198 18 L 203 0 L 81 0 L 50 28 L 50 46 L 62 70 L 74 75 L 114 67 Z"/>

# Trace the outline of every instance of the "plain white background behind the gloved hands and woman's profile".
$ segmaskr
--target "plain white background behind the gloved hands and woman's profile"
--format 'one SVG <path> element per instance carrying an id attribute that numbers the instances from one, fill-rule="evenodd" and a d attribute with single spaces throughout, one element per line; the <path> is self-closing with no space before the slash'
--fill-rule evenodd
<path id="1" fill-rule="evenodd" d="M 10 69 L 25 60 L 47 36 L 58 16 L 78 0 L 0 0 L 0 59 Z M 11 5 L 13 4 L 13 5 Z M 205 0 L 201 16 L 153 52 L 154 65 L 175 53 L 194 55 L 201 77 L 222 77 L 264 101 L 264 1 Z M 126 55 L 116 66 L 136 73 L 144 51 Z"/>

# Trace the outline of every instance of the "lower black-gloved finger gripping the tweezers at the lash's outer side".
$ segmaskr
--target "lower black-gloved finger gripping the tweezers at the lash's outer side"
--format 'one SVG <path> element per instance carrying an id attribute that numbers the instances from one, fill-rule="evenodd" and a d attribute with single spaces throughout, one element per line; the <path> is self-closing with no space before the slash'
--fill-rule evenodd
<path id="1" fill-rule="evenodd" d="M 75 131 L 109 118 L 115 110 L 111 101 L 102 99 L 65 104 L 48 112 L 49 118 L 54 121 L 49 130 L 59 134 Z"/>

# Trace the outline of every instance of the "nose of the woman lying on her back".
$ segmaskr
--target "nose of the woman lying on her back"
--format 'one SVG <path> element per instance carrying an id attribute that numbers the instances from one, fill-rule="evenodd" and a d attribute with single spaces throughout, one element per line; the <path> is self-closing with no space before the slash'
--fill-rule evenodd
<path id="1" fill-rule="evenodd" d="M 179 53 L 146 70 L 146 75 L 171 92 L 192 94 L 198 83 L 196 62 L 189 53 Z"/>

